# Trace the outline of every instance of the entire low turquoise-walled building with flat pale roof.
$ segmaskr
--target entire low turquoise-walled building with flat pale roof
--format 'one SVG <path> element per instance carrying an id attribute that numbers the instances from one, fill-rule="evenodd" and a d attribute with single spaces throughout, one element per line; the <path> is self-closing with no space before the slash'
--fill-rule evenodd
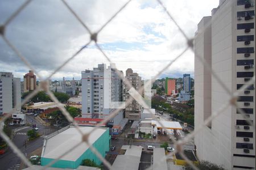
<path id="1" fill-rule="evenodd" d="M 88 133 L 93 127 L 79 126 L 83 134 Z M 105 158 L 106 152 L 110 147 L 109 128 L 98 128 L 89 135 L 89 143 L 94 146 Z M 93 154 L 89 146 L 85 145 L 82 141 L 81 134 L 74 126 L 67 126 L 55 133 L 48 135 L 44 139 L 44 145 L 41 155 L 41 165 L 45 166 L 51 163 L 54 159 L 63 155 L 51 167 L 55 168 L 71 168 L 76 169 L 84 159 L 93 160 L 96 164 L 100 165 L 101 160 Z M 73 149 L 72 149 L 73 148 Z"/>

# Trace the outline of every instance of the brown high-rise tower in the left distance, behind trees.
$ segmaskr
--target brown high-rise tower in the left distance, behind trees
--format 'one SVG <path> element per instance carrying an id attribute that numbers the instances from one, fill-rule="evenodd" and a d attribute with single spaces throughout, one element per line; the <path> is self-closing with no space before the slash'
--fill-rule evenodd
<path id="1" fill-rule="evenodd" d="M 36 75 L 33 70 L 24 75 L 24 92 L 32 91 L 36 89 Z"/>

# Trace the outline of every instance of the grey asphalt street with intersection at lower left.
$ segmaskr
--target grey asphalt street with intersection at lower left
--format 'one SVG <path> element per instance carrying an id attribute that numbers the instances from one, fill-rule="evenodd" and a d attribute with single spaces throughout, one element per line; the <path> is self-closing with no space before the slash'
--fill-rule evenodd
<path id="1" fill-rule="evenodd" d="M 53 131 L 56 131 L 57 129 L 41 125 L 38 121 L 35 120 L 35 117 L 32 115 L 26 115 L 26 120 L 27 122 L 30 122 L 30 124 L 36 124 L 36 128 L 39 128 L 38 132 L 42 136 L 38 139 L 35 139 L 34 141 L 28 141 L 27 147 L 25 147 L 24 143 L 25 141 L 27 141 L 27 131 L 32 129 L 32 127 L 27 126 L 24 128 L 20 128 L 14 133 L 13 142 L 19 148 L 19 150 L 23 152 L 24 155 L 25 153 L 27 153 L 27 155 L 30 155 L 32 151 L 43 146 L 45 135 L 53 133 Z M 18 156 L 16 156 L 13 150 L 9 148 L 9 150 L 7 150 L 5 154 L 0 156 L 0 165 L 0 169 L 19 169 L 20 159 Z"/>

